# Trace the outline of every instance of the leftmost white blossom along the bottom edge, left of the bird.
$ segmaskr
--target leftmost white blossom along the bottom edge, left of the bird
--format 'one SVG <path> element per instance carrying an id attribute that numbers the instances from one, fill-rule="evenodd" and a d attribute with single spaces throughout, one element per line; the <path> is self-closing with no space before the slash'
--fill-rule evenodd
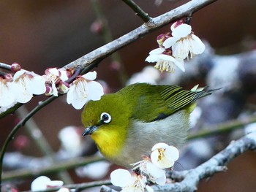
<path id="1" fill-rule="evenodd" d="M 31 191 L 45 191 L 48 188 L 60 188 L 63 184 L 61 180 L 50 180 L 46 176 L 40 176 L 31 183 Z"/>

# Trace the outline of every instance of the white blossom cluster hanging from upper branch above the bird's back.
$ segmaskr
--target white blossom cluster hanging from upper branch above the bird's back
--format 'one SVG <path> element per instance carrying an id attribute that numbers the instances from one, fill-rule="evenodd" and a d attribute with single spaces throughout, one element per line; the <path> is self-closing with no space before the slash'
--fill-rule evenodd
<path id="1" fill-rule="evenodd" d="M 185 72 L 184 59 L 203 53 L 205 45 L 192 32 L 191 26 L 178 20 L 170 27 L 172 33 L 157 37 L 159 48 L 151 50 L 145 61 L 157 62 L 154 66 L 161 72 L 175 72 L 176 66 Z"/>

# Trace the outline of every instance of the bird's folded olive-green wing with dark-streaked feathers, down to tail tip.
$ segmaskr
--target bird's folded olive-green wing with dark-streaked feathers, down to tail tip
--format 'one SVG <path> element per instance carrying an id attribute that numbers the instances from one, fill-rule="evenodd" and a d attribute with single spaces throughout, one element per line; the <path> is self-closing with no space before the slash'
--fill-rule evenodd
<path id="1" fill-rule="evenodd" d="M 145 95 L 138 99 L 133 118 L 146 122 L 164 119 L 184 107 L 194 108 L 191 105 L 194 101 L 211 94 L 211 91 L 187 91 L 176 85 L 150 86 L 154 86 L 154 89 L 143 90 Z"/>

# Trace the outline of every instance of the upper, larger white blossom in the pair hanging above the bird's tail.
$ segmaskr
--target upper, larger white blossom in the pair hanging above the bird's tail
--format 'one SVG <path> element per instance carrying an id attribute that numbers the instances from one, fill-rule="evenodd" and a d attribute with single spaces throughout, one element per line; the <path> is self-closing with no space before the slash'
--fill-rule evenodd
<path id="1" fill-rule="evenodd" d="M 172 36 L 163 42 L 165 49 L 173 50 L 173 56 L 177 59 L 192 58 L 194 55 L 203 53 L 206 46 L 192 32 L 191 26 L 182 23 L 177 26 L 177 22 L 171 26 Z"/>

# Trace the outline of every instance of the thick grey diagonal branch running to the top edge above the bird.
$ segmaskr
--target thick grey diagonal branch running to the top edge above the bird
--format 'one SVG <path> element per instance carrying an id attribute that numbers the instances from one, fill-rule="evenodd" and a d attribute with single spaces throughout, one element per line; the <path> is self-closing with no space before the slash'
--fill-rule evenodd
<path id="1" fill-rule="evenodd" d="M 135 42 L 137 39 L 145 36 L 151 31 L 157 30 L 162 26 L 167 25 L 170 22 L 177 20 L 178 18 L 183 18 L 187 15 L 190 15 L 192 12 L 196 12 L 203 7 L 206 7 L 208 4 L 213 3 L 217 0 L 192 0 L 187 4 L 183 4 L 180 7 L 166 12 L 163 15 L 158 16 L 157 18 L 152 18 L 147 23 L 144 23 L 142 26 L 135 28 L 135 30 L 130 31 L 128 34 L 119 37 L 113 42 L 109 42 L 102 47 L 97 48 L 90 53 L 83 55 L 75 61 L 72 61 L 70 64 L 64 66 L 64 69 L 75 68 L 77 66 L 89 67 L 94 65 L 94 61 L 99 60 L 99 58 L 106 58 L 108 55 L 116 52 L 116 50 L 121 49 L 124 46 L 129 45 L 132 42 Z"/>

